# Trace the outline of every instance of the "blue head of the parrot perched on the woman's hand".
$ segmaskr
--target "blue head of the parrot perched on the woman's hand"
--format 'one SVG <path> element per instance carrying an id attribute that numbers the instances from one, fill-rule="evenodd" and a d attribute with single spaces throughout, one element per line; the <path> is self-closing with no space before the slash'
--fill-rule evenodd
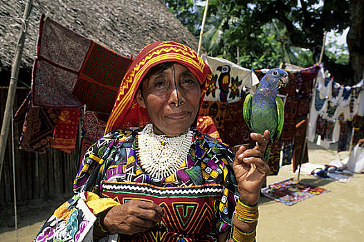
<path id="1" fill-rule="evenodd" d="M 271 89 L 278 90 L 288 84 L 288 73 L 282 69 L 271 69 L 262 78 L 262 86 Z"/>

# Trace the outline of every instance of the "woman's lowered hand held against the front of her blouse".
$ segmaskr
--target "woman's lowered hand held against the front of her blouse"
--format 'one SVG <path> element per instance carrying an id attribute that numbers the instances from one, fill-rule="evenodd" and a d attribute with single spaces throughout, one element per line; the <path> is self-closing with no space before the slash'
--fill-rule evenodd
<path id="1" fill-rule="evenodd" d="M 104 217 L 103 227 L 110 234 L 136 234 L 145 232 L 162 221 L 165 212 L 155 203 L 131 200 L 112 207 Z"/>

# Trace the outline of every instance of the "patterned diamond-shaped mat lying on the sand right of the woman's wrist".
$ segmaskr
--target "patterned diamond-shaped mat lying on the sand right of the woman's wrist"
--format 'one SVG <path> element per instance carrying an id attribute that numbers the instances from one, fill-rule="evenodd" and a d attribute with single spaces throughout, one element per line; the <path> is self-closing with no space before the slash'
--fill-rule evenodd
<path id="1" fill-rule="evenodd" d="M 322 187 L 299 183 L 294 181 L 293 178 L 288 178 L 262 188 L 261 192 L 267 198 L 291 206 L 304 199 L 330 191 Z"/>

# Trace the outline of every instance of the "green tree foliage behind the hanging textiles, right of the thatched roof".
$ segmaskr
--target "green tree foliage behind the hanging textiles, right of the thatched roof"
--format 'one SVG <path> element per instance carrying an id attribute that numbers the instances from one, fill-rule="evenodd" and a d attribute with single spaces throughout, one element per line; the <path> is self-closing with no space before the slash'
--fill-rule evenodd
<path id="1" fill-rule="evenodd" d="M 165 2 L 198 35 L 203 7 L 197 8 L 196 0 Z M 318 62 L 325 30 L 342 32 L 347 26 L 348 0 L 210 0 L 202 45 L 208 55 L 247 68 L 281 62 L 307 67 Z M 348 62 L 343 51 L 325 54 L 339 64 Z"/>

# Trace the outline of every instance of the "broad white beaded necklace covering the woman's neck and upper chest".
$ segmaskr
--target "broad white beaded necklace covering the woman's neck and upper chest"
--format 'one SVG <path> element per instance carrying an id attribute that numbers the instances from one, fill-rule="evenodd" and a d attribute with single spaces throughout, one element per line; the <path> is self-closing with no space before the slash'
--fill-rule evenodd
<path id="1" fill-rule="evenodd" d="M 152 178 L 165 178 L 176 172 L 187 158 L 193 132 L 188 129 L 179 136 L 156 135 L 152 124 L 138 133 L 140 166 Z"/>

